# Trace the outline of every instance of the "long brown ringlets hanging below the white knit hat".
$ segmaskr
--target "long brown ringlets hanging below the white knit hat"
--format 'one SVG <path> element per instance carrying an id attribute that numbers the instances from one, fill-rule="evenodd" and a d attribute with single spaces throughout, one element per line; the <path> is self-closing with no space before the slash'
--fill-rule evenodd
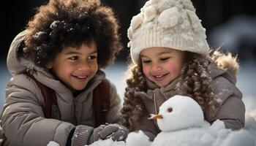
<path id="1" fill-rule="evenodd" d="M 176 85 L 176 93 L 195 99 L 202 108 L 205 118 L 216 116 L 219 101 L 214 97 L 211 86 L 211 77 L 208 74 L 208 58 L 197 53 L 184 51 L 185 61 L 181 69 L 181 78 Z M 141 64 L 130 65 L 132 77 L 127 79 L 127 88 L 124 93 L 124 107 L 121 110 L 121 124 L 135 130 L 144 110 L 146 110 L 140 96 L 135 96 L 135 91 L 146 91 L 146 79 L 143 75 Z"/>

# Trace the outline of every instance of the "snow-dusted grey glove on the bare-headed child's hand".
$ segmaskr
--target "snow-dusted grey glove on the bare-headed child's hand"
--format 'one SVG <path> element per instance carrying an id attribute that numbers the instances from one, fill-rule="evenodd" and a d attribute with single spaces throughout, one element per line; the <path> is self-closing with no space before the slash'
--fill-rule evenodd
<path id="1" fill-rule="evenodd" d="M 127 138 L 128 129 L 119 124 L 101 125 L 94 128 L 94 132 L 91 135 L 90 142 L 95 142 L 99 139 L 111 138 L 113 141 L 121 141 Z"/>

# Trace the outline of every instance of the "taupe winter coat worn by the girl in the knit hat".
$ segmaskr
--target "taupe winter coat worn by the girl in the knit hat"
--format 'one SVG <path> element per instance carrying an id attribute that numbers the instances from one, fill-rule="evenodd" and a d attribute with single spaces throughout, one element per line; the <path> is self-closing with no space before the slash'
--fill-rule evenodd
<path id="1" fill-rule="evenodd" d="M 217 65 L 211 61 L 209 66 L 210 76 L 212 78 L 212 85 L 214 87 L 214 94 L 222 102 L 222 106 L 217 110 L 217 116 L 214 119 L 206 119 L 208 122 L 214 122 L 217 119 L 224 121 L 226 128 L 231 128 L 233 130 L 240 129 L 244 127 L 244 115 L 245 107 L 243 101 L 241 101 L 242 93 L 236 88 L 236 75 L 234 67 L 236 68 L 237 63 L 233 64 L 233 61 L 229 58 L 225 58 L 225 61 L 230 61 L 228 63 L 230 66 L 225 66 L 225 69 L 220 69 Z M 226 63 L 226 62 L 220 62 Z M 234 66 L 232 66 L 234 65 Z M 223 67 L 223 66 L 222 66 Z M 146 112 L 143 113 L 142 120 L 140 123 L 136 124 L 136 130 L 142 130 L 151 139 L 159 134 L 160 129 L 157 126 L 156 120 L 148 120 L 150 114 L 156 114 L 154 108 L 154 96 L 156 98 L 157 111 L 159 111 L 159 106 L 176 95 L 174 88 L 178 83 L 178 79 L 174 80 L 164 88 L 158 88 L 153 82 L 147 80 L 147 85 L 150 89 L 145 92 L 136 92 L 135 94 L 143 99 L 143 103 L 146 107 Z M 189 119 L 188 119 L 189 122 Z"/>

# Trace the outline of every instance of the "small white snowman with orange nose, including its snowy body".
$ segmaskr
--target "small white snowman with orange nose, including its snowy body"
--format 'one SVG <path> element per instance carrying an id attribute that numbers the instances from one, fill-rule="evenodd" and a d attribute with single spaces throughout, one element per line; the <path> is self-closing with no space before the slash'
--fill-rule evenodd
<path id="1" fill-rule="evenodd" d="M 230 133 L 221 120 L 212 126 L 203 118 L 203 111 L 197 102 L 188 96 L 173 96 L 159 107 L 157 120 L 162 130 L 151 146 L 177 145 L 220 145 Z"/>

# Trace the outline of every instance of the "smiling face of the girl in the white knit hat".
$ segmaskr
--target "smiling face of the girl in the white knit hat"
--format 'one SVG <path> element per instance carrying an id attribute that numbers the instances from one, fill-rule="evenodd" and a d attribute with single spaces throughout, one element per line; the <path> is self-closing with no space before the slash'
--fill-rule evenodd
<path id="1" fill-rule="evenodd" d="M 150 47 L 140 52 L 140 58 L 148 80 L 165 87 L 180 75 L 184 53 L 167 47 Z"/>

